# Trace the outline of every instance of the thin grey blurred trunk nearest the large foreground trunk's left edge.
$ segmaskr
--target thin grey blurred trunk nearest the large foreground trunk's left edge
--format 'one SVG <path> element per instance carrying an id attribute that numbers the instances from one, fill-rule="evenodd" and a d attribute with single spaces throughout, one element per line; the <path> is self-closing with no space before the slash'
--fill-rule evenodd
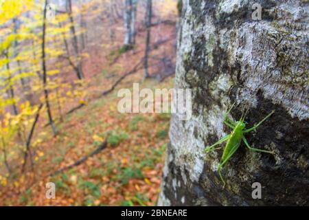
<path id="1" fill-rule="evenodd" d="M 145 47 L 145 57 L 144 57 L 144 78 L 148 78 L 148 56 L 150 52 L 150 31 L 151 31 L 151 19 L 152 19 L 152 0 L 147 0 L 146 5 L 146 47 Z"/>

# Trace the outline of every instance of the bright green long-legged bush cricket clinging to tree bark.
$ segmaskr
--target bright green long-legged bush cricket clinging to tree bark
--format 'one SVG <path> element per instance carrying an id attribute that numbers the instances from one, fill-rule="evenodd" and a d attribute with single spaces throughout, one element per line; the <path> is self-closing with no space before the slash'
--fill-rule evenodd
<path id="1" fill-rule="evenodd" d="M 235 104 L 235 103 L 234 103 Z M 234 104 L 231 106 L 231 109 L 233 109 Z M 215 144 L 211 145 L 211 146 L 207 146 L 207 148 L 205 148 L 206 152 L 209 151 L 214 151 L 218 148 L 214 148 L 214 146 L 218 145 L 218 144 L 222 144 L 223 142 L 227 142 L 227 144 L 225 144 L 225 148 L 223 150 L 222 153 L 222 157 L 220 159 L 220 164 L 218 166 L 218 173 L 220 175 L 220 179 L 223 182 L 223 188 L 225 187 L 225 180 L 222 177 L 221 174 L 221 170 L 223 168 L 223 166 L 225 166 L 225 164 L 227 164 L 227 162 L 229 161 L 229 159 L 231 158 L 231 156 L 237 151 L 238 147 L 240 146 L 241 142 L 244 141 L 244 144 L 251 150 L 251 151 L 257 151 L 257 152 L 264 152 L 264 153 L 272 153 L 273 151 L 265 151 L 265 150 L 261 150 L 258 148 L 253 148 L 251 147 L 248 142 L 246 137 L 244 137 L 244 133 L 248 133 L 250 131 L 255 130 L 256 128 L 258 128 L 258 126 L 260 126 L 267 118 L 269 118 L 275 111 L 271 111 L 271 113 L 269 113 L 263 120 L 261 120 L 260 122 L 258 122 L 258 124 L 255 124 L 253 127 L 251 127 L 250 129 L 245 129 L 246 128 L 246 124 L 247 122 L 244 121 L 245 115 L 242 115 L 242 117 L 240 118 L 240 120 L 238 122 L 234 122 L 231 118 L 229 118 L 229 112 L 231 111 L 231 109 L 229 109 L 226 113 L 225 113 L 225 119 L 224 119 L 224 123 L 229 126 L 231 129 L 233 129 L 233 131 L 229 134 L 226 135 L 225 137 L 222 137 L 220 140 L 218 140 L 218 142 L 216 142 Z"/>

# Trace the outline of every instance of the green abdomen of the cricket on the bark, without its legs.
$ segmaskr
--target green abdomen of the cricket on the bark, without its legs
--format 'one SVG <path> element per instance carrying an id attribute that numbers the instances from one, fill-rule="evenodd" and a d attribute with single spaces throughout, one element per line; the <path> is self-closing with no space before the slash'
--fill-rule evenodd
<path id="1" fill-rule="evenodd" d="M 224 161 L 225 158 L 227 158 L 227 155 L 231 153 L 233 148 L 234 150 L 232 154 L 234 154 L 237 148 L 240 146 L 241 141 L 242 141 L 242 129 L 240 129 L 239 126 L 236 126 L 235 129 L 232 131 L 231 137 L 227 141 L 227 144 L 225 145 L 225 149 L 223 151 L 221 160 Z"/>

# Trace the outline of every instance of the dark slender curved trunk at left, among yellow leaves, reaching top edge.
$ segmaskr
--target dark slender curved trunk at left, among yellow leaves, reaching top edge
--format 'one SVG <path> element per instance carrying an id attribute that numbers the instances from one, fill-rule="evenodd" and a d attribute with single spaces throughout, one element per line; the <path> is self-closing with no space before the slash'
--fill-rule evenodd
<path id="1" fill-rule="evenodd" d="M 56 126 L 54 124 L 54 120 L 52 118 L 52 111 L 49 105 L 49 97 L 48 97 L 48 89 L 47 86 L 47 71 L 46 71 L 46 61 L 45 61 L 45 31 L 46 31 L 46 11 L 47 11 L 47 0 L 45 0 L 44 14 L 43 14 L 43 34 L 42 34 L 42 68 L 43 68 L 43 87 L 44 87 L 44 97 L 45 104 L 47 108 L 47 115 L 49 124 L 52 126 L 52 131 L 54 136 L 56 136 Z"/>

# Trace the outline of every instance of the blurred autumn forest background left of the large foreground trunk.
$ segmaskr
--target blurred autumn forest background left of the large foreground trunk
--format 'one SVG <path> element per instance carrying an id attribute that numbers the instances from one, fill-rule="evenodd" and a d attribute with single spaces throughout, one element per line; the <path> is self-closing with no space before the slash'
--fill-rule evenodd
<path id="1" fill-rule="evenodd" d="M 119 113 L 117 91 L 172 88 L 180 8 L 0 1 L 1 206 L 156 204 L 170 114 Z"/>

